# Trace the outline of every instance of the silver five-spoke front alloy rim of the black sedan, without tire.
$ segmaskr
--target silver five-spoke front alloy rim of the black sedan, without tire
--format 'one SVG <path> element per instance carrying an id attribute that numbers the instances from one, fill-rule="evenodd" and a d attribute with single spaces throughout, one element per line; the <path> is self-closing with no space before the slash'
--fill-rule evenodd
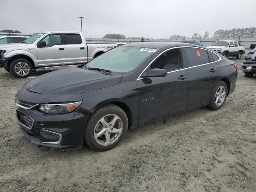
<path id="1" fill-rule="evenodd" d="M 123 131 L 123 121 L 116 114 L 102 117 L 94 127 L 94 139 L 102 145 L 108 146 L 116 142 Z"/>

